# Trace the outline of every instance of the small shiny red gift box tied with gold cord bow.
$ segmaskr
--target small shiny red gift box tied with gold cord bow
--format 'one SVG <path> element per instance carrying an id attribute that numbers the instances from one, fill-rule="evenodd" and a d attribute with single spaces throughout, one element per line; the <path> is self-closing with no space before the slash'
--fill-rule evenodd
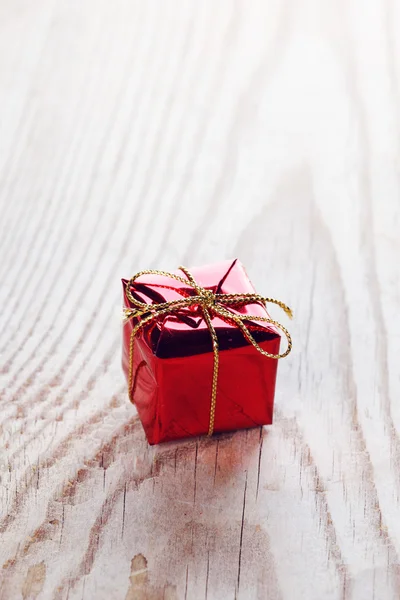
<path id="1" fill-rule="evenodd" d="M 122 365 L 150 444 L 272 423 L 287 330 L 238 260 L 122 280 Z M 288 347 L 279 354 L 281 330 Z"/>

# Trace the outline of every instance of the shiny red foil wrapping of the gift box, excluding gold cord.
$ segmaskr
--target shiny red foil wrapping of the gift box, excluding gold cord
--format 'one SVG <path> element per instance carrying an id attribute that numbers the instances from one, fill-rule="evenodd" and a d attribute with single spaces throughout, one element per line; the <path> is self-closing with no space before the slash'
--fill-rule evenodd
<path id="1" fill-rule="evenodd" d="M 255 293 L 243 265 L 225 261 L 190 269 L 196 282 L 214 293 Z M 184 277 L 181 271 L 175 272 Z M 124 306 L 133 308 L 122 280 Z M 184 283 L 143 275 L 131 287 L 141 302 L 160 303 L 195 295 Z M 261 304 L 230 309 L 237 314 L 269 317 Z M 122 366 L 129 380 L 129 345 L 137 320 L 123 326 Z M 254 339 L 270 354 L 279 354 L 280 334 L 270 323 L 245 321 Z M 214 431 L 247 429 L 272 423 L 277 363 L 266 358 L 241 330 L 214 316 L 219 344 L 219 375 Z M 208 432 L 214 354 L 199 306 L 162 316 L 136 335 L 133 355 L 133 400 L 150 444 Z"/>

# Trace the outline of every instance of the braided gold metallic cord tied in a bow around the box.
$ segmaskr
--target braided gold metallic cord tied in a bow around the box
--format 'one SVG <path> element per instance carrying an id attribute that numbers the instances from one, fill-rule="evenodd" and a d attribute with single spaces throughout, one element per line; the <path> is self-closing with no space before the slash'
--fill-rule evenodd
<path id="1" fill-rule="evenodd" d="M 186 275 L 186 279 L 184 277 L 180 277 L 179 275 L 175 275 L 175 273 L 168 273 L 166 271 L 157 271 L 157 270 L 148 270 L 148 271 L 140 271 L 140 273 L 136 273 L 127 283 L 126 285 L 126 295 L 129 301 L 134 305 L 135 308 L 125 308 L 124 309 L 124 318 L 125 322 L 130 321 L 131 319 L 139 319 L 137 324 L 132 329 L 130 344 L 129 344 L 129 377 L 128 377 L 128 386 L 129 386 L 129 399 L 134 404 L 133 400 L 133 352 L 134 352 L 134 344 L 135 337 L 137 333 L 145 327 L 151 321 L 158 319 L 163 315 L 171 315 L 174 312 L 180 311 L 184 308 L 199 306 L 201 307 L 201 311 L 204 317 L 204 320 L 207 324 L 207 327 L 211 334 L 212 345 L 213 345 L 213 353 L 214 353 L 214 367 L 213 367 L 213 380 L 212 380 L 212 391 L 211 391 L 211 408 L 210 408 L 210 421 L 208 428 L 208 435 L 212 435 L 214 431 L 214 421 L 215 421 L 215 406 L 217 403 L 217 386 L 218 386 L 218 369 L 219 369 L 219 346 L 218 346 L 218 338 L 217 333 L 215 331 L 214 325 L 212 324 L 212 317 L 219 316 L 224 321 L 234 324 L 239 329 L 241 329 L 244 337 L 247 341 L 254 346 L 254 348 L 260 352 L 263 356 L 267 358 L 285 358 L 289 354 L 292 349 L 292 338 L 288 330 L 273 319 L 269 317 L 259 317 L 256 315 L 239 315 L 237 313 L 232 312 L 230 309 L 236 306 L 244 306 L 246 304 L 259 303 L 264 307 L 267 302 L 272 304 L 277 304 L 284 312 L 290 317 L 293 317 L 292 310 L 286 306 L 280 300 L 275 300 L 274 298 L 264 298 L 259 294 L 215 294 L 211 290 L 207 290 L 201 287 L 194 279 L 193 275 L 186 269 L 185 267 L 179 267 L 179 270 L 182 271 Z M 175 279 L 176 281 L 180 281 L 185 285 L 193 288 L 196 292 L 194 296 L 187 296 L 184 298 L 180 298 L 178 300 L 171 300 L 169 302 L 160 302 L 156 304 L 147 304 L 147 302 L 140 302 L 137 300 L 132 292 L 131 286 L 133 283 L 141 277 L 142 275 L 160 275 L 162 277 L 168 277 L 169 279 Z M 182 293 L 180 288 L 173 288 L 178 294 Z M 264 323 L 271 323 L 271 325 L 275 325 L 278 329 L 280 329 L 286 336 L 288 346 L 286 351 L 283 354 L 270 354 L 263 350 L 256 342 L 254 337 L 251 335 L 249 328 L 244 324 L 243 321 L 262 321 Z"/>

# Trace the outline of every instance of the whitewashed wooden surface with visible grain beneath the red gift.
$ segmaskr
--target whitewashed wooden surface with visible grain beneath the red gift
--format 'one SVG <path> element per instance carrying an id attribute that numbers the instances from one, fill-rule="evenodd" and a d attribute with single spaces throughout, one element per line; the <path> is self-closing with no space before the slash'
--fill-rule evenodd
<path id="1" fill-rule="evenodd" d="M 0 2 L 1 600 L 400 598 L 399 23 Z M 235 256 L 296 314 L 275 424 L 150 448 L 120 277 Z"/>

